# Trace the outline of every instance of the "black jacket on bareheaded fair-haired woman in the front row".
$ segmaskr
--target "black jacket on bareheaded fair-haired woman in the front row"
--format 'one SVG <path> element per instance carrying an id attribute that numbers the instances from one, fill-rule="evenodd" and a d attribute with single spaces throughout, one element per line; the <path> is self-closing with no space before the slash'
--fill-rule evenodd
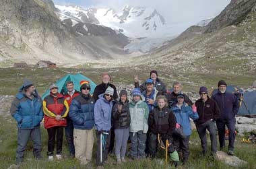
<path id="1" fill-rule="evenodd" d="M 155 135 L 159 133 L 172 137 L 176 123 L 175 115 L 168 107 L 164 107 L 162 110 L 159 107 L 154 108 L 148 117 L 148 126 Z"/>

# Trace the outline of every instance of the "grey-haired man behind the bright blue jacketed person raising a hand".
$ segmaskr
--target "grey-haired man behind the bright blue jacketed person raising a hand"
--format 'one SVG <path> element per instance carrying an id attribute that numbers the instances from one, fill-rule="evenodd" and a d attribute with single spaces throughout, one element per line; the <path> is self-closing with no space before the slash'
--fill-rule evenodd
<path id="1" fill-rule="evenodd" d="M 181 90 L 183 89 L 183 86 L 182 86 L 181 82 L 174 81 L 173 85 L 172 85 L 172 88 L 173 88 L 173 91 L 170 94 L 166 95 L 170 108 L 177 104 L 177 102 L 178 102 L 177 95 L 181 92 Z M 183 94 L 183 95 L 184 95 L 184 101 L 189 106 L 192 106 L 193 102 L 189 99 L 189 96 L 187 96 L 186 94 Z"/>

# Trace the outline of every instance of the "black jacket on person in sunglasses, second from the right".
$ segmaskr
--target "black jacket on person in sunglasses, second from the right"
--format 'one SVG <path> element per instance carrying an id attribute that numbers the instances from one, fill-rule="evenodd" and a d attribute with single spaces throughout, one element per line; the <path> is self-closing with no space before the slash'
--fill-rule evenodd
<path id="1" fill-rule="evenodd" d="M 220 117 L 218 104 L 209 97 L 206 102 L 203 102 L 200 98 L 195 102 L 195 106 L 197 106 L 197 113 L 199 115 L 199 119 L 195 121 L 197 125 L 201 125 L 210 119 L 216 121 Z"/>

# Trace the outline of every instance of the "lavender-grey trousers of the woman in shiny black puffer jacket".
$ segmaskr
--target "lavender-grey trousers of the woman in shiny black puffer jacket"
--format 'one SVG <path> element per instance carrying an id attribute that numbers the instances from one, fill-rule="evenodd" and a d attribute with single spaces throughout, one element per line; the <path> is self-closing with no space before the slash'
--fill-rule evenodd
<path id="1" fill-rule="evenodd" d="M 117 156 L 121 155 L 121 158 L 124 158 L 126 153 L 127 141 L 129 137 L 129 128 L 115 129 L 115 137 L 116 137 L 115 154 Z M 120 151 L 121 151 L 121 154 L 120 154 Z"/>

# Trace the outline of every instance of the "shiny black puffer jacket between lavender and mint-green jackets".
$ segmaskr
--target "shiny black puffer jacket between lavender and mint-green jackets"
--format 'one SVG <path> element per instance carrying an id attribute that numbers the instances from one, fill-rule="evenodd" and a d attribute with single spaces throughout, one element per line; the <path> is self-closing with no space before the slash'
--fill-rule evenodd
<path id="1" fill-rule="evenodd" d="M 118 105 L 122 105 L 121 113 L 118 111 Z M 129 102 L 117 102 L 112 109 L 112 119 L 114 129 L 127 129 L 130 127 L 131 117 L 129 111 Z"/>

